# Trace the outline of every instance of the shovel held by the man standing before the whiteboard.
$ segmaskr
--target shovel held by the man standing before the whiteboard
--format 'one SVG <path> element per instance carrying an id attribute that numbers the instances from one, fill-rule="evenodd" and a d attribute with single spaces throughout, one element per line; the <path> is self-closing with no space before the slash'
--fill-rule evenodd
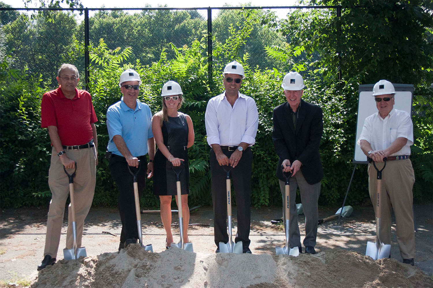
<path id="1" fill-rule="evenodd" d="M 372 162 L 372 158 L 367 158 L 369 160 L 368 162 Z M 380 199 L 381 199 L 381 193 L 382 193 L 382 171 L 385 169 L 386 166 L 386 158 L 383 158 L 385 161 L 383 168 L 379 170 L 376 167 L 376 163 L 373 162 L 373 166 L 375 167 L 377 171 L 377 180 L 378 180 L 378 193 L 377 193 L 377 206 L 376 206 L 376 243 L 367 242 L 367 249 L 365 250 L 365 255 L 372 257 L 374 260 L 378 260 L 381 258 L 388 258 L 389 253 L 391 251 L 391 245 L 390 244 L 383 244 L 380 241 Z"/>

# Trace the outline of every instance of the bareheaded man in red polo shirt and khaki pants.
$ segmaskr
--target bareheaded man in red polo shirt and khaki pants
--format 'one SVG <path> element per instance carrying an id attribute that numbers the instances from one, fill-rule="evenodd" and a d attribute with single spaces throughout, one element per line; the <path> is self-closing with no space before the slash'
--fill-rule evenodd
<path id="1" fill-rule="evenodd" d="M 84 218 L 92 205 L 96 184 L 97 121 L 89 92 L 77 89 L 78 69 L 62 64 L 57 73 L 58 89 L 42 97 L 41 126 L 48 128 L 52 142 L 48 184 L 52 198 L 48 211 L 44 259 L 38 270 L 53 265 L 57 257 L 65 204 L 69 195 L 68 176 L 63 171 L 75 169 L 74 203 L 77 222 L 77 247 L 81 247 Z M 70 170 L 72 173 L 73 170 Z M 71 211 L 68 214 L 66 249 L 73 246 Z"/>

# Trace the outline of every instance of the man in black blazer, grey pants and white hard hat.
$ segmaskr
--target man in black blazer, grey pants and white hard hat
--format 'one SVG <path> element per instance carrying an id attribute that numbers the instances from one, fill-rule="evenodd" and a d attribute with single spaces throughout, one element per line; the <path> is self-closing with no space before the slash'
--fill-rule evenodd
<path id="1" fill-rule="evenodd" d="M 320 139 L 323 134 L 323 113 L 319 106 L 301 100 L 305 85 L 304 79 L 299 73 L 287 73 L 281 87 L 284 89 L 287 102 L 274 108 L 272 142 L 279 157 L 277 177 L 283 199 L 285 177 L 282 172 L 292 173 L 290 180 L 289 244 L 291 248 L 299 247 L 299 252 L 302 253 L 295 205 L 296 188 L 299 186 L 305 214 L 305 252 L 315 254 L 314 246 L 316 245 L 318 220 L 317 201 L 320 194 L 320 180 L 323 178 L 319 153 Z M 281 165 L 284 169 L 281 169 Z M 285 217 L 286 215 L 284 215 L 284 220 Z"/>

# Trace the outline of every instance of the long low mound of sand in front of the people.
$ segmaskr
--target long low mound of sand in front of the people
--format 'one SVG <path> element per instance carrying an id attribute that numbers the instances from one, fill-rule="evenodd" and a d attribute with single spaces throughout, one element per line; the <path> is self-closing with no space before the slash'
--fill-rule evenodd
<path id="1" fill-rule="evenodd" d="M 374 261 L 347 250 L 298 257 L 204 254 L 139 244 L 120 253 L 61 260 L 39 272 L 31 287 L 433 287 L 420 269 L 393 259 Z"/>

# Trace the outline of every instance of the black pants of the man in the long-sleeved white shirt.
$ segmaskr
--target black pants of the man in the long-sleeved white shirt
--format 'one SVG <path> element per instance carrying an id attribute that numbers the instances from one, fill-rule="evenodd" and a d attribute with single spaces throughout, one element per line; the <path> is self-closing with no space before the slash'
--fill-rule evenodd
<path id="1" fill-rule="evenodd" d="M 234 151 L 223 150 L 223 153 L 230 158 Z M 246 149 L 242 153 L 238 165 L 230 171 L 231 182 L 233 183 L 236 195 L 237 207 L 237 233 L 235 243 L 242 241 L 244 247 L 249 247 L 249 231 L 251 224 L 251 171 L 252 171 L 252 151 Z M 217 247 L 220 242 L 227 243 L 229 235 L 227 233 L 227 190 L 226 190 L 226 171 L 216 161 L 215 152 L 210 150 L 210 172 L 212 173 L 212 203 L 213 203 L 213 229 L 214 240 Z M 232 193 L 233 194 L 233 193 Z M 232 215 L 233 218 L 233 215 Z"/>

